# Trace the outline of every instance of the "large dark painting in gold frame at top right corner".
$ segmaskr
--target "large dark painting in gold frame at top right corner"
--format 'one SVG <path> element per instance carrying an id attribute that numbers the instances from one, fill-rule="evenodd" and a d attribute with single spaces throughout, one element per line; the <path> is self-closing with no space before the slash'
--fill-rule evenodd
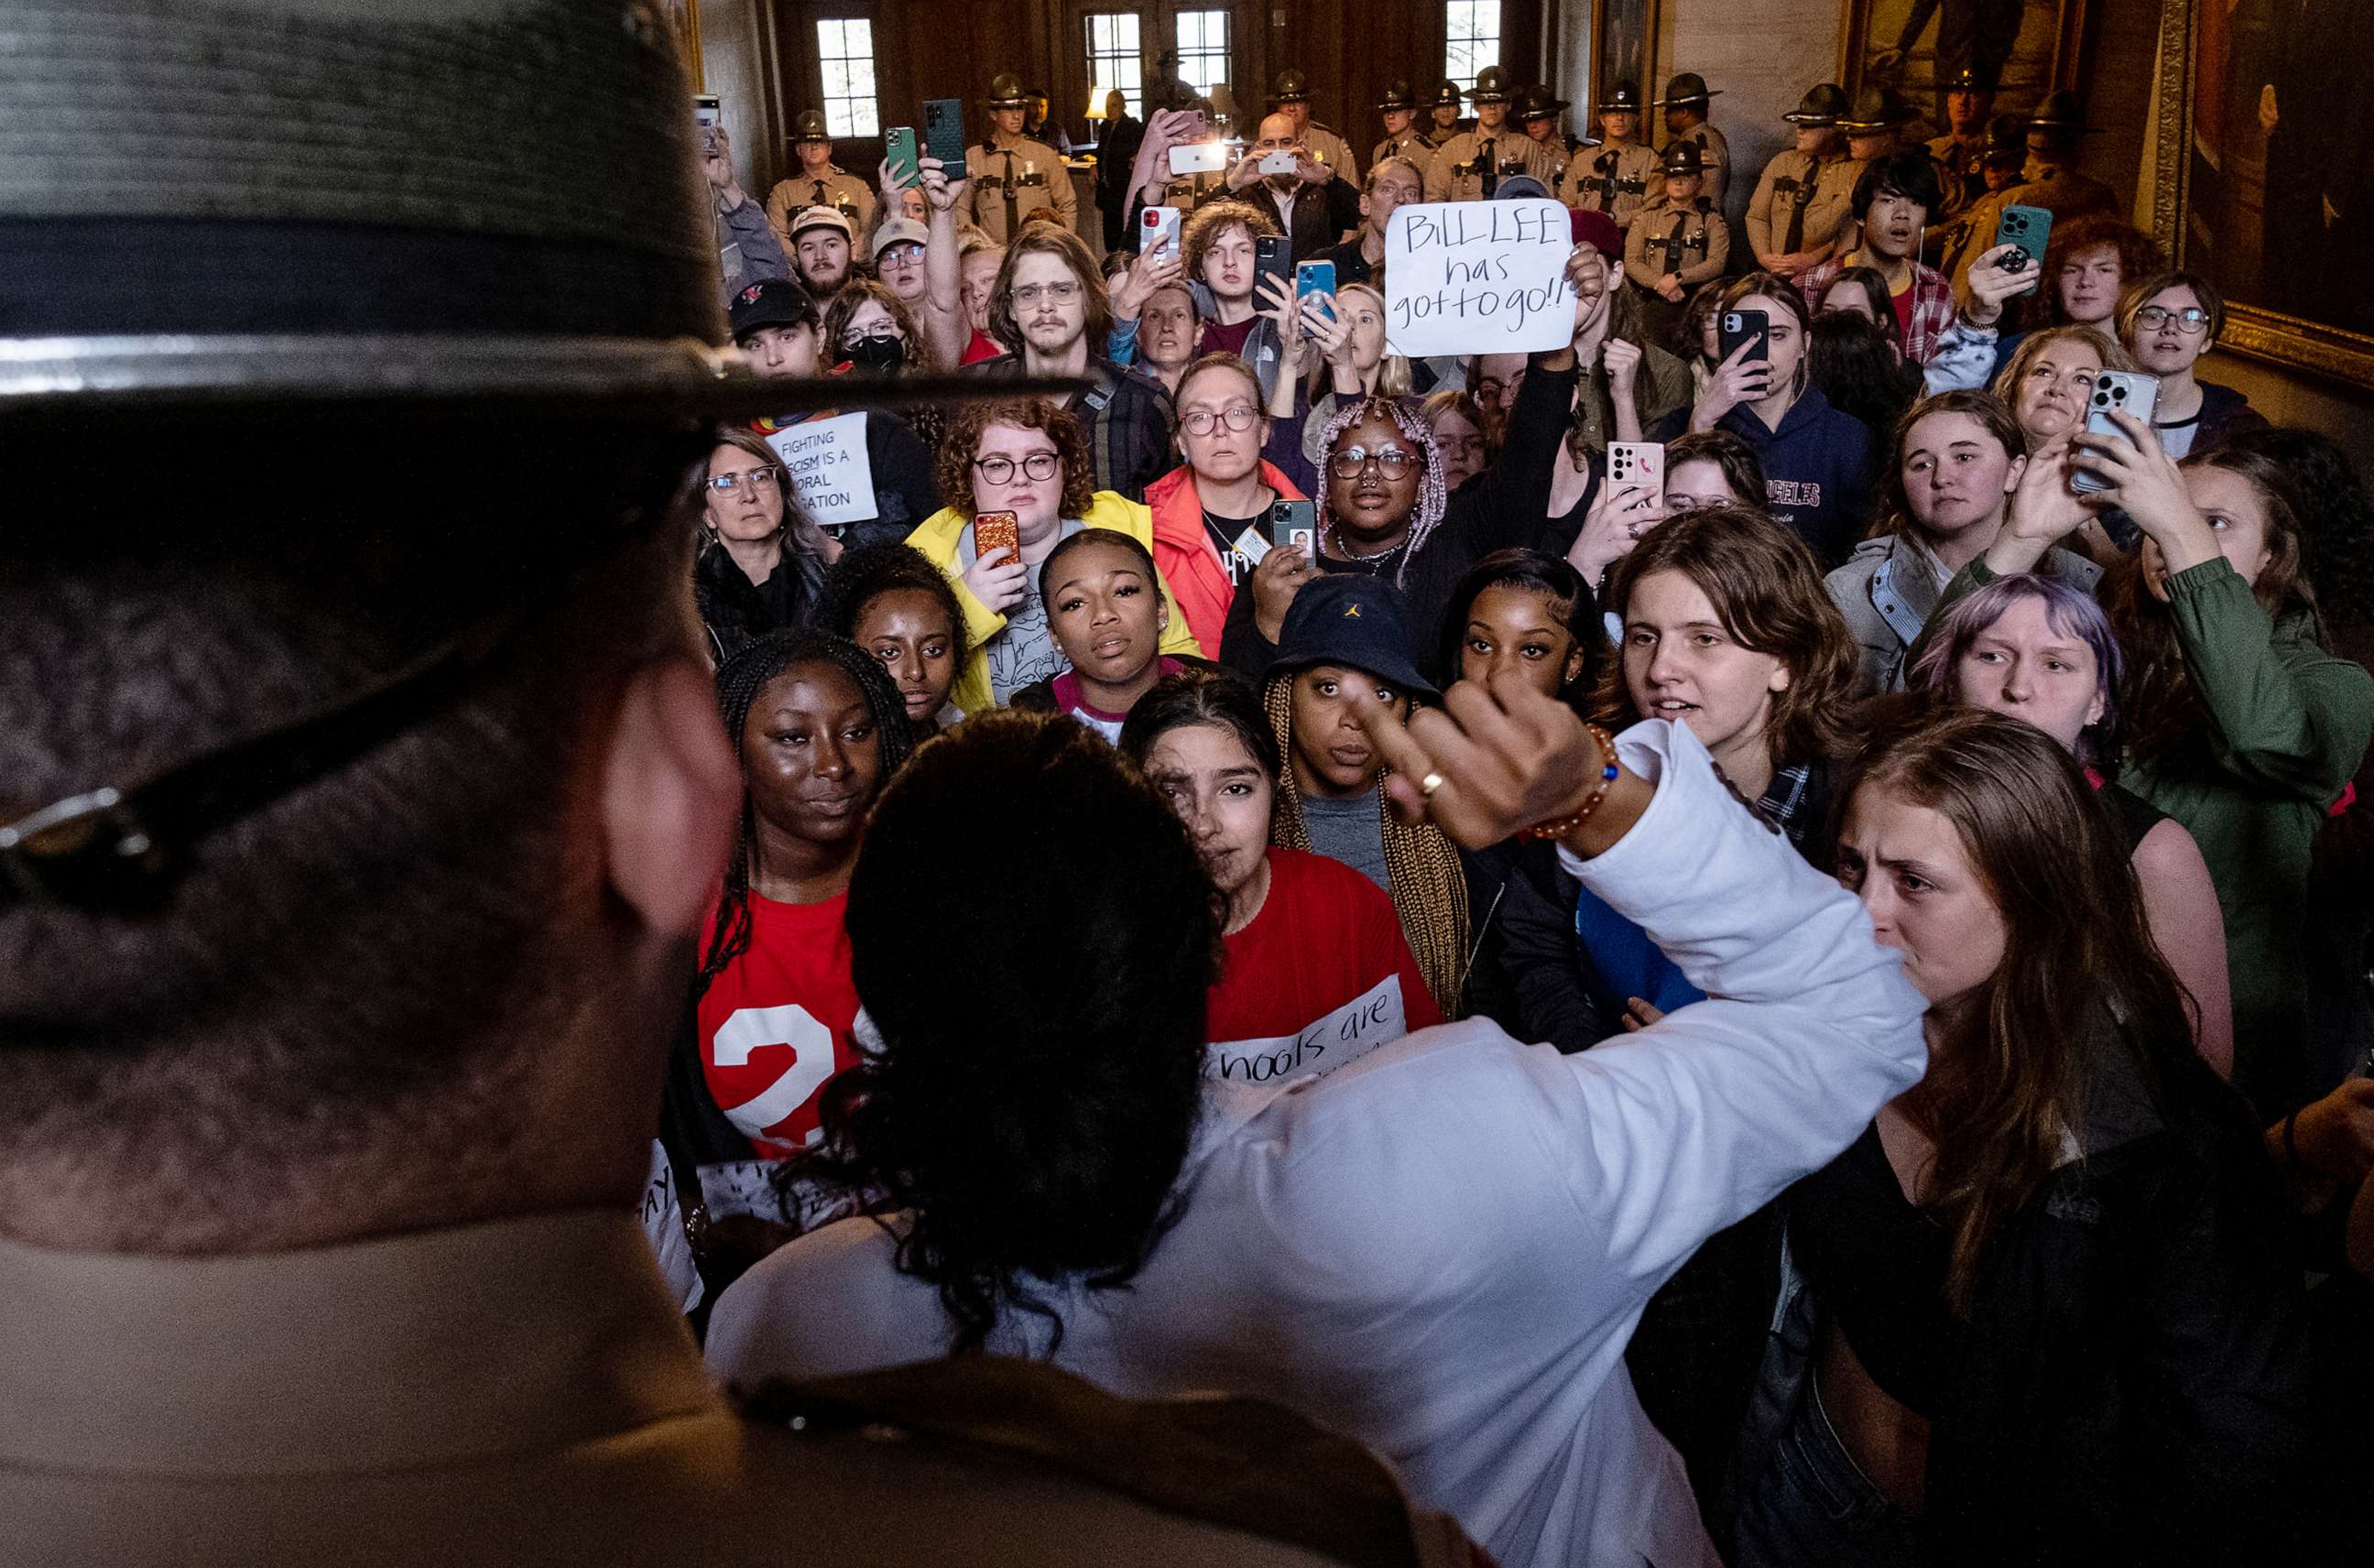
<path id="1" fill-rule="evenodd" d="M 2374 29 L 2362 0 L 2163 0 L 2153 226 L 2222 349 L 2374 387 Z"/>

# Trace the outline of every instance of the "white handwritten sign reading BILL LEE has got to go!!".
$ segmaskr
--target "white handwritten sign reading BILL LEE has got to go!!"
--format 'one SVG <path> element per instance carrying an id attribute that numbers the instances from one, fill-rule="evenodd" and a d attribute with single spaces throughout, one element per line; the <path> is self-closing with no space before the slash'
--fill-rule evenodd
<path id="1" fill-rule="evenodd" d="M 1531 354 L 1574 337 L 1557 202 L 1420 202 L 1384 228 L 1384 342 L 1394 354 Z"/>

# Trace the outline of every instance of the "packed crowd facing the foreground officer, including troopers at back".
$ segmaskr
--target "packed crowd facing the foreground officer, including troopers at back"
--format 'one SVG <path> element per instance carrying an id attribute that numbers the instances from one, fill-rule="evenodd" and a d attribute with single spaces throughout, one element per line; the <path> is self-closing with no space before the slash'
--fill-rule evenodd
<path id="1" fill-rule="evenodd" d="M 1085 390 L 871 411 L 938 442 L 893 501 L 904 556 L 836 551 L 781 468 L 731 489 L 741 430 L 700 475 L 705 603 L 781 611 L 710 615 L 745 848 L 677 1086 L 724 1136 L 667 1157 L 741 1226 L 681 1281 L 712 1364 L 985 1347 L 1272 1392 L 1500 1561 L 1667 1561 L 1700 1528 L 1759 1566 L 2305 1551 L 2322 1399 L 2362 1371 L 2329 1335 L 2362 1347 L 2374 1266 L 2346 870 L 2374 679 L 2336 644 L 2362 482 L 2194 373 L 2217 290 L 2065 171 L 2065 95 L 2013 126 L 2020 178 L 1978 78 L 1928 145 L 1894 93 L 1816 86 L 1738 245 L 1702 78 L 1659 100 L 1662 152 L 1631 83 L 1579 150 L 1500 71 L 1467 97 L 1429 135 L 1396 83 L 1363 169 L 1289 74 L 1201 188 L 1161 159 L 1204 109 L 1154 107 L 1102 264 L 1054 211 L 969 230 L 926 159 L 897 363 L 831 328 L 855 271 L 802 252 L 734 297 L 764 368 L 845 373 L 848 406 L 919 366 Z M 1391 354 L 1394 209 L 1543 195 L 1572 340 Z M 1178 240 L 1137 247 L 1161 204 Z M 1992 235 L 2032 204 L 2063 219 L 2042 259 Z M 1272 238 L 1337 287 L 1263 273 Z M 824 325 L 753 344 L 793 287 Z M 2151 421 L 2089 428 L 2094 378 L 2137 368 Z M 1617 442 L 1662 468 L 1614 475 Z M 1602 789 L 1716 779 L 1764 843 L 1697 843 L 1662 903 L 1560 832 L 1436 810 L 1460 774 L 1429 744 L 1548 713 L 1591 725 Z M 966 758 L 973 815 L 940 822 Z M 1113 767 L 1199 870 L 1154 824 L 1161 853 L 1078 832 L 1066 791 Z M 869 957 L 921 886 L 964 908 Z M 1147 900 L 1192 905 L 1185 965 Z M 1750 931 L 1783 912 L 1823 943 Z M 1830 1057 L 1716 1088 L 1726 1007 L 1837 1022 L 1826 965 L 1871 950 L 1918 991 L 1909 1079 L 1818 1138 Z M 812 1041 L 738 1024 L 786 1010 Z M 1085 1060 L 1111 1029 L 1161 1062 Z M 1313 1079 L 1339 1093 L 1289 1109 Z M 1655 1171 L 1638 1138 L 1674 1140 Z"/>

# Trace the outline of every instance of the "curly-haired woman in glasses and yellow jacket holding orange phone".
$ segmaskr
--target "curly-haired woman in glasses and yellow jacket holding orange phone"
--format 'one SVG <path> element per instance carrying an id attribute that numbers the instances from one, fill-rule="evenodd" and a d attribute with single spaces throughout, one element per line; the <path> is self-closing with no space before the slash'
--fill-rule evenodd
<path id="1" fill-rule="evenodd" d="M 1016 691 L 1054 679 L 1071 663 L 1047 625 L 1037 570 L 1068 535 L 1111 527 L 1154 549 L 1154 518 L 1111 489 L 1094 489 L 1094 466 L 1080 421 L 1045 397 L 964 404 L 940 442 L 940 494 L 947 506 L 907 544 L 957 587 L 969 656 L 950 691 L 966 713 L 1004 708 Z M 1016 546 L 992 539 L 983 551 L 978 518 L 1011 513 Z M 1163 584 L 1170 615 L 1163 653 L 1194 653 L 1187 615 Z"/>

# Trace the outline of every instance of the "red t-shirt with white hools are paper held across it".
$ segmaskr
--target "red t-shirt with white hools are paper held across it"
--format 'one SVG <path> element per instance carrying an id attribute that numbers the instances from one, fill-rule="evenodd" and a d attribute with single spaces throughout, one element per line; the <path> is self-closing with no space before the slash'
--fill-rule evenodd
<path id="1" fill-rule="evenodd" d="M 1329 1071 L 1443 1022 L 1384 889 L 1339 860 L 1275 846 L 1270 896 L 1227 938 L 1204 1007 L 1204 1074 L 1223 1083 Z"/>

